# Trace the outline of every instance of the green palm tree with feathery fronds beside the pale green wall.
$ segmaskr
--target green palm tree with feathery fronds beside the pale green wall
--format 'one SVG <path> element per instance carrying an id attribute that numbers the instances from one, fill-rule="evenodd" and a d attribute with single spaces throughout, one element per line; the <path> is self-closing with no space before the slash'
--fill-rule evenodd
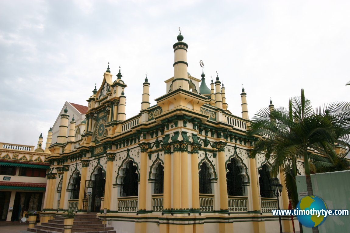
<path id="1" fill-rule="evenodd" d="M 255 114 L 247 134 L 261 138 L 254 142 L 251 156 L 265 153 L 273 161 L 274 176 L 302 158 L 308 195 L 313 195 L 308 152 L 315 150 L 336 163 L 334 143 L 350 146 L 349 119 L 350 103 L 331 103 L 313 109 L 302 89 L 301 96 L 289 100 L 288 109 L 264 108 Z M 318 232 L 318 228 L 314 227 L 313 232 Z"/>

